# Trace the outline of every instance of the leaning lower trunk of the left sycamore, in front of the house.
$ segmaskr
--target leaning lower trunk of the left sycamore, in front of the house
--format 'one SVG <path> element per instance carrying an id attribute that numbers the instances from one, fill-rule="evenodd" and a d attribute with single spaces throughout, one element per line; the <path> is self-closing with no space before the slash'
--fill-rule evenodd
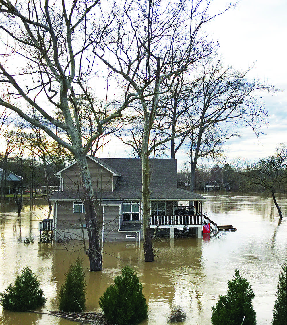
<path id="1" fill-rule="evenodd" d="M 96 212 L 91 176 L 86 157 L 76 158 L 76 161 L 82 179 L 83 201 L 85 205 L 85 221 L 87 225 L 87 233 L 89 240 L 89 247 L 88 249 L 86 249 L 85 253 L 89 257 L 90 271 L 101 271 L 103 269 L 103 266 L 99 232 L 100 220 Z"/>

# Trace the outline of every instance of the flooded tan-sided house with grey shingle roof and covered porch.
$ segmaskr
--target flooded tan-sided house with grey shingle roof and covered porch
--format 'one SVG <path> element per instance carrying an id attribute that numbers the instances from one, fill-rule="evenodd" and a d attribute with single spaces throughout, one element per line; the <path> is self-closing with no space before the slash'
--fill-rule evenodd
<path id="1" fill-rule="evenodd" d="M 103 241 L 139 241 L 142 238 L 141 160 L 87 156 Z M 174 236 L 189 228 L 202 237 L 202 201 L 199 194 L 177 188 L 176 160 L 150 159 L 151 228 Z M 54 201 L 54 238 L 80 238 L 85 232 L 85 206 L 79 169 L 72 163 L 60 170 Z M 187 201 L 187 207 L 179 204 Z M 86 236 L 86 234 L 85 234 Z M 87 237 L 85 237 L 87 238 Z"/>

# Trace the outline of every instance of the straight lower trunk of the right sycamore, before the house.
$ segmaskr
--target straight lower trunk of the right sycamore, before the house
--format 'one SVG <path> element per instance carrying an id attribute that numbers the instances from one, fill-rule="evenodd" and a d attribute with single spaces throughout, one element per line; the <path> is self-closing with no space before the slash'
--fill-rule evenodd
<path id="1" fill-rule="evenodd" d="M 142 209 L 145 262 L 152 262 L 154 261 L 154 254 L 150 232 L 150 164 L 147 154 L 142 156 Z"/>

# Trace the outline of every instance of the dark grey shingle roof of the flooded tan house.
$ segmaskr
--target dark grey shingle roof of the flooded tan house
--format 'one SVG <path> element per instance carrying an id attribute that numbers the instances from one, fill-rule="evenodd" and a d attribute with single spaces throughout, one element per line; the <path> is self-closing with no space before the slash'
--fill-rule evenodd
<path id="1" fill-rule="evenodd" d="M 141 159 L 95 158 L 87 156 L 118 176 L 114 191 L 94 192 L 101 201 L 139 201 L 142 198 Z M 68 166 L 71 167 L 72 165 Z M 63 170 L 67 169 L 64 168 Z M 62 170 L 62 171 L 63 171 Z M 61 171 L 57 173 L 60 175 Z M 197 193 L 177 188 L 176 159 L 150 159 L 150 199 L 170 201 L 202 201 Z M 78 192 L 55 192 L 51 200 L 81 200 Z"/>

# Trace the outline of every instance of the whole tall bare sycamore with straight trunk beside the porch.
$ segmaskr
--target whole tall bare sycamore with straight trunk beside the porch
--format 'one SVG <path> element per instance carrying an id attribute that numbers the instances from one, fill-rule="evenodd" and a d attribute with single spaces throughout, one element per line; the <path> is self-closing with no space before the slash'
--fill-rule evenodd
<path id="1" fill-rule="evenodd" d="M 153 261 L 150 233 L 150 166 L 154 148 L 171 140 L 150 144 L 156 126 L 160 95 L 167 92 L 177 76 L 197 60 L 208 56 L 212 46 L 200 33 L 214 16 L 207 15 L 208 3 L 148 0 L 126 1 L 123 8 L 112 6 L 102 12 L 109 26 L 101 33 L 95 53 L 121 82 L 125 96 L 136 96 L 143 119 L 138 153 L 142 160 L 142 212 L 145 261 Z M 136 13 L 136 15 L 135 15 Z M 111 18 L 112 17 L 112 18 Z M 167 81 L 168 87 L 164 86 Z M 178 135 L 177 135 L 178 136 Z"/>

